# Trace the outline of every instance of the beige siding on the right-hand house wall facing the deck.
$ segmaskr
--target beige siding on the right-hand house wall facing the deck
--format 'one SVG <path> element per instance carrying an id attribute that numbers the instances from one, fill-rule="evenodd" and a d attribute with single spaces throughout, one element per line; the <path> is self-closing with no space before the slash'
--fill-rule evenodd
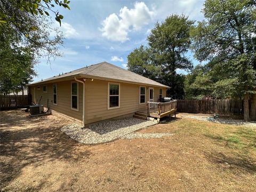
<path id="1" fill-rule="evenodd" d="M 146 103 L 139 104 L 140 85 L 120 83 L 120 108 L 108 109 L 108 82 L 94 79 L 85 82 L 85 121 L 93 123 L 108 118 L 146 111 L 148 101 L 148 88 L 146 86 Z M 163 89 L 165 97 L 166 89 Z M 159 88 L 154 87 L 154 101 L 159 98 Z"/>

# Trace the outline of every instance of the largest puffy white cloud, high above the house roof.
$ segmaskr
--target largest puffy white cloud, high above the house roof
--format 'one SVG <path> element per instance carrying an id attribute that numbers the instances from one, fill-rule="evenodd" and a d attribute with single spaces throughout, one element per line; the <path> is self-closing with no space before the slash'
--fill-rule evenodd
<path id="1" fill-rule="evenodd" d="M 124 6 L 119 11 L 119 17 L 112 13 L 102 22 L 102 36 L 112 41 L 125 42 L 129 40 L 130 30 L 140 30 L 154 15 L 154 10 L 150 11 L 144 2 L 136 2 L 134 9 Z"/>

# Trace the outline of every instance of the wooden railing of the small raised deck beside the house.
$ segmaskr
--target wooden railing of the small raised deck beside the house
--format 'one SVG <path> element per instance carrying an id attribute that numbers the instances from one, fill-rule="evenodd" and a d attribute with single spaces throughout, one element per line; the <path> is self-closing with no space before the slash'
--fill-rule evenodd
<path id="1" fill-rule="evenodd" d="M 177 100 L 170 102 L 149 102 L 148 101 L 148 114 L 161 115 L 167 111 L 177 108 Z"/>

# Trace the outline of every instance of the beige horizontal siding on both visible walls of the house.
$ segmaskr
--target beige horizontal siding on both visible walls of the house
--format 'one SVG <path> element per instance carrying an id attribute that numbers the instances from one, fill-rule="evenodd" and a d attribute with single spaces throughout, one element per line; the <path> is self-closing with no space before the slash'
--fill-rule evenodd
<path id="1" fill-rule="evenodd" d="M 136 111 L 147 111 L 147 101 L 149 96 L 149 87 L 146 86 L 146 103 L 139 104 L 140 99 L 140 85 L 119 83 L 120 84 L 120 108 L 108 109 L 108 83 L 109 82 L 94 79 L 93 81 L 85 82 L 85 123 L 93 123 L 108 118 L 114 118 L 122 115 L 132 114 Z M 53 83 L 47 85 L 47 93 L 43 92 L 43 84 L 30 87 L 32 100 L 40 99 L 42 95 L 41 104 L 47 106 L 47 99 L 49 99 L 50 109 L 71 117 L 76 121 L 82 122 L 83 119 L 83 84 L 78 84 L 79 94 L 79 111 L 71 109 L 71 81 L 56 83 L 58 93 L 58 105 L 53 105 Z M 37 90 L 40 86 L 40 90 Z M 34 94 L 34 88 L 36 94 Z M 154 88 L 154 101 L 158 102 L 159 87 Z M 166 89 L 163 88 L 163 97 L 166 97 Z"/>

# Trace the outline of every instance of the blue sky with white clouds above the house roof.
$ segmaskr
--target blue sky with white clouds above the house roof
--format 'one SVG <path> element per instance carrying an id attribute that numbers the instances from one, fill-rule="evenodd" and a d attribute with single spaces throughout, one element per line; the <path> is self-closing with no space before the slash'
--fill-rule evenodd
<path id="1" fill-rule="evenodd" d="M 63 47 L 60 47 L 63 57 L 51 60 L 51 64 L 41 59 L 36 65 L 38 76 L 34 81 L 102 61 L 125 68 L 127 55 L 135 47 L 147 43 L 147 35 L 157 21 L 162 22 L 173 13 L 202 20 L 202 7 L 201 0 L 73 0 L 70 11 L 59 9 L 64 16 L 62 26 L 54 24 L 65 37 Z M 196 65 L 198 62 L 193 59 L 193 54 L 188 55 Z"/>

